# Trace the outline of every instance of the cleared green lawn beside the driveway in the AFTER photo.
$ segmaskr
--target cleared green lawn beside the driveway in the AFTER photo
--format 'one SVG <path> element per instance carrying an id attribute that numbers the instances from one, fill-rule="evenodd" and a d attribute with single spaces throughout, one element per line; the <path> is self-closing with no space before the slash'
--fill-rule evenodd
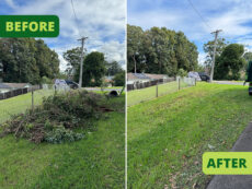
<path id="1" fill-rule="evenodd" d="M 230 151 L 251 107 L 248 87 L 209 83 L 128 107 L 128 188 L 205 188 L 202 154 Z"/>

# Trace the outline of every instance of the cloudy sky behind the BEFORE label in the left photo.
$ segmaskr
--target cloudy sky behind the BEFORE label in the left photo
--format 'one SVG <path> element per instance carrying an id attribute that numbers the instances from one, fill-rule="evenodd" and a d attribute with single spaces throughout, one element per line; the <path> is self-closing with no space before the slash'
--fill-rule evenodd
<path id="1" fill-rule="evenodd" d="M 107 61 L 118 61 L 125 68 L 125 16 L 124 0 L 0 0 L 0 14 L 55 14 L 60 20 L 57 38 L 42 38 L 59 55 L 60 70 L 67 62 L 62 52 L 80 47 L 77 39 L 89 37 L 87 52 L 102 51 Z M 78 29 L 79 28 L 79 29 Z"/>

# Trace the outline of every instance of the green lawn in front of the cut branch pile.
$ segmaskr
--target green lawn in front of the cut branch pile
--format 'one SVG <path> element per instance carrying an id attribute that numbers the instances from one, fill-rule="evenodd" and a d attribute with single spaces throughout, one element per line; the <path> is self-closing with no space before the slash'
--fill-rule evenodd
<path id="1" fill-rule="evenodd" d="M 80 141 L 34 144 L 13 135 L 0 139 L 0 188 L 123 188 L 125 95 L 108 103 L 116 110 L 94 121 Z"/>

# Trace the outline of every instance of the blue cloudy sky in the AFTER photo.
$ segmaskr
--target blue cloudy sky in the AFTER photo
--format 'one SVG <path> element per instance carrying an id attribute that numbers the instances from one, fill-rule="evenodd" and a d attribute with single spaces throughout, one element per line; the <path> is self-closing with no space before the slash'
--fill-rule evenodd
<path id="1" fill-rule="evenodd" d="M 252 0 L 128 0 L 127 23 L 184 32 L 197 46 L 199 63 L 206 57 L 203 45 L 214 39 L 216 29 L 222 29 L 219 37 L 252 51 Z"/>

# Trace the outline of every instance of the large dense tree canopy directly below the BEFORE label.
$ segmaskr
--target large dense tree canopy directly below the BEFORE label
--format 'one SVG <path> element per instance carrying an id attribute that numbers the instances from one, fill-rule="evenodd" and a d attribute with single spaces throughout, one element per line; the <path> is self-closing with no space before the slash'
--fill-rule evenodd
<path id="1" fill-rule="evenodd" d="M 42 39 L 1 38 L 0 62 L 3 82 L 41 83 L 43 76 L 59 73 L 58 55 Z"/>

